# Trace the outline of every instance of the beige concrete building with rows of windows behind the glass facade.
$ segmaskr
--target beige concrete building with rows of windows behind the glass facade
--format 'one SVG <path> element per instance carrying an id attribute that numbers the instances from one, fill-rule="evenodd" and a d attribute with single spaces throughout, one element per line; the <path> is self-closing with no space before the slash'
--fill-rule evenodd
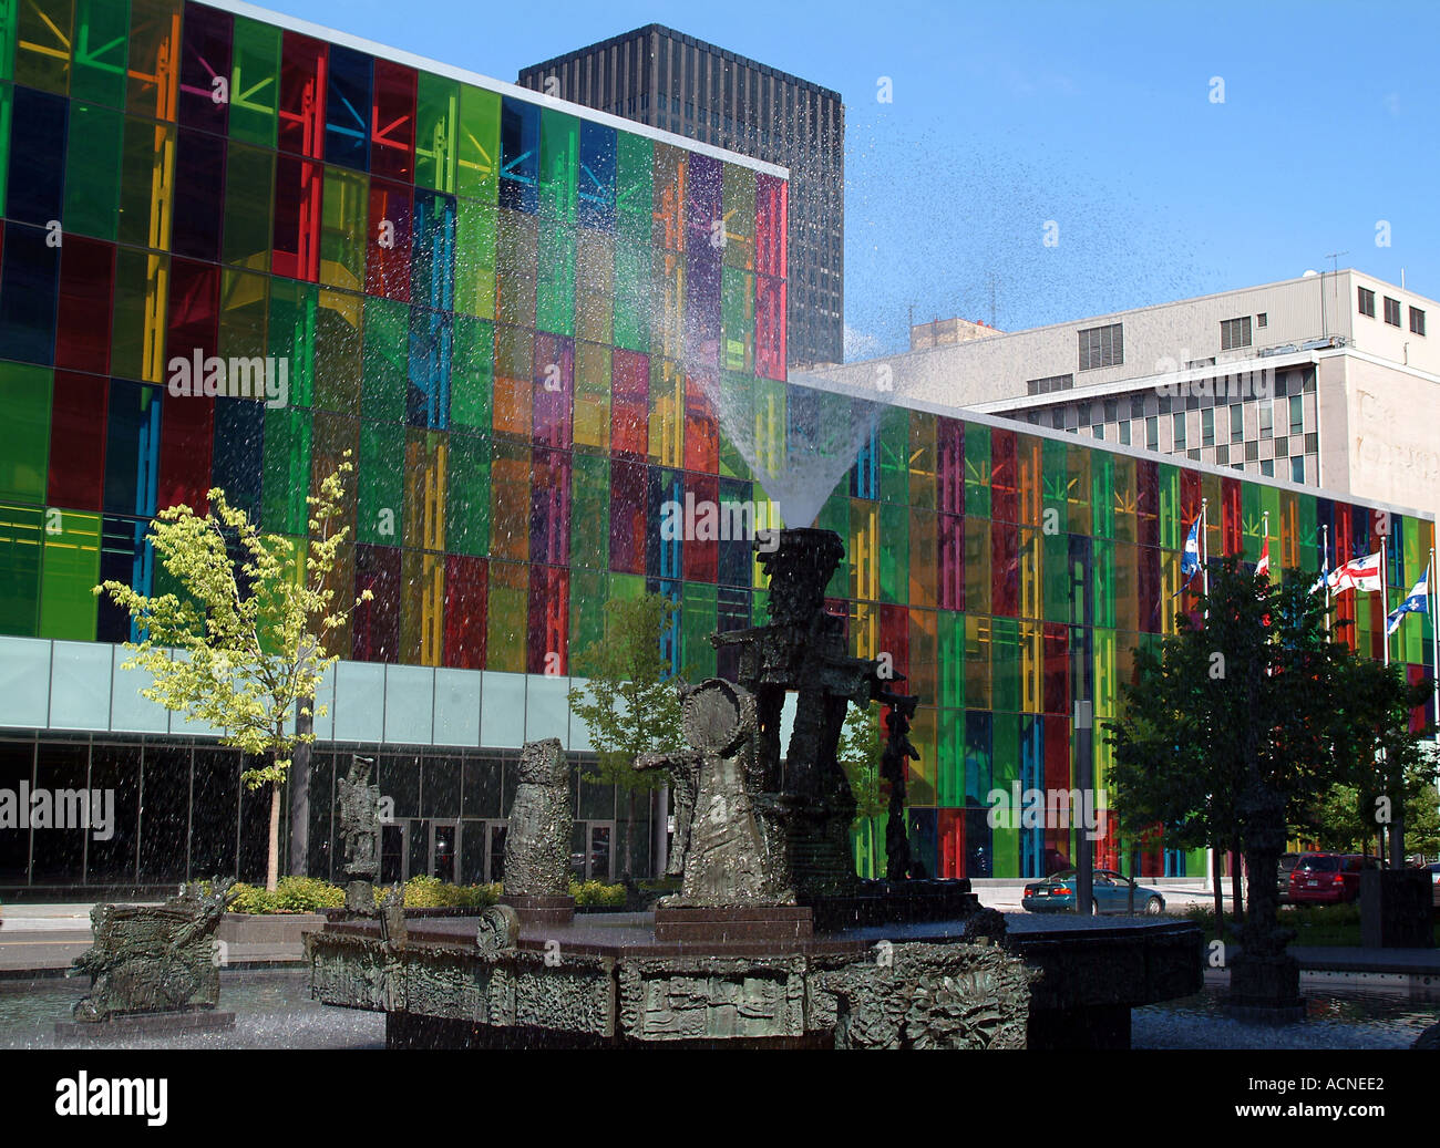
<path id="1" fill-rule="evenodd" d="M 1342 269 L 815 374 L 1440 514 L 1436 322 Z"/>

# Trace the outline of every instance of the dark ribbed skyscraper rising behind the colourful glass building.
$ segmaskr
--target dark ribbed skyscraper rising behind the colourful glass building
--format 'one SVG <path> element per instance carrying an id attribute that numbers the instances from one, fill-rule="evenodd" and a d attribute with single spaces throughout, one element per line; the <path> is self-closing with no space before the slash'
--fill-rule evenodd
<path id="1" fill-rule="evenodd" d="M 838 92 L 661 24 L 524 68 L 520 85 L 788 167 L 788 360 L 842 360 L 845 108 Z"/>

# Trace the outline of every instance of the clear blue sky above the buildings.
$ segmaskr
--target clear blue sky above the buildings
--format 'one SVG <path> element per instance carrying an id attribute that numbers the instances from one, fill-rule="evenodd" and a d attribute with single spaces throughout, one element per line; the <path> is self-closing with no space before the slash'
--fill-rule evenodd
<path id="1" fill-rule="evenodd" d="M 269 7 L 505 81 L 665 23 L 840 91 L 852 352 L 901 348 L 912 306 L 989 321 L 992 285 L 995 322 L 1018 329 L 1286 279 L 1331 252 L 1440 296 L 1431 0 Z"/>

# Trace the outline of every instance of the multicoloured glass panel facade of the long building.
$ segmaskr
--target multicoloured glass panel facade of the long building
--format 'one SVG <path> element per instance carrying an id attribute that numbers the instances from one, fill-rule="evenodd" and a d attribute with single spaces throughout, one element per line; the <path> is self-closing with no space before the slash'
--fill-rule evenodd
<path id="1" fill-rule="evenodd" d="M 783 174 L 474 79 L 177 0 L 0 3 L 0 633 L 125 640 L 91 588 L 164 588 L 158 508 L 223 486 L 300 538 L 350 450 L 337 588 L 373 601 L 341 656 L 583 678 L 605 601 L 660 588 L 672 665 L 730 670 L 707 634 L 763 620 L 760 571 L 743 539 L 662 538 L 661 505 L 765 499 L 717 393 L 768 457 L 835 401 L 785 381 Z M 285 401 L 173 393 L 196 355 L 284 364 Z M 932 873 L 1071 855 L 1066 832 L 991 829 L 986 794 L 1070 787 L 1074 703 L 1112 716 L 1132 649 L 1172 627 L 1201 498 L 1212 555 L 1256 560 L 1266 511 L 1277 567 L 1313 570 L 1322 525 L 1341 557 L 1381 541 L 1369 509 L 1299 489 L 876 411 L 818 525 L 848 548 L 854 653 L 924 702 Z M 1433 522 L 1388 522 L 1408 588 Z M 1380 598 L 1355 620 L 1378 656 Z M 1392 640 L 1416 676 L 1428 626 Z"/>

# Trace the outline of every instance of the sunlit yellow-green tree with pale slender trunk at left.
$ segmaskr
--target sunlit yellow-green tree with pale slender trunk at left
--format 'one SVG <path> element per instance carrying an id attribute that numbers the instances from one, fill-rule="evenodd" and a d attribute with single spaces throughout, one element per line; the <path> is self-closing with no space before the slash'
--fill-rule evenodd
<path id="1" fill-rule="evenodd" d="M 147 596 L 118 581 L 95 587 L 127 610 L 143 636 L 125 643 L 124 669 L 147 670 L 154 683 L 141 693 L 186 721 L 223 729 L 233 745 L 264 761 L 240 774 L 251 790 L 271 788 L 265 888 L 279 878 L 281 794 L 295 748 L 312 741 L 297 732 L 295 718 L 324 716 L 312 709 L 321 676 L 338 655 L 327 643 L 359 598 L 336 610 L 331 571 L 348 528 L 340 525 L 346 462 L 311 495 L 310 537 L 262 534 L 225 491 L 209 491 L 210 509 L 167 506 L 156 515 L 148 538 L 184 594 Z M 232 555 L 232 547 L 238 557 Z"/>

